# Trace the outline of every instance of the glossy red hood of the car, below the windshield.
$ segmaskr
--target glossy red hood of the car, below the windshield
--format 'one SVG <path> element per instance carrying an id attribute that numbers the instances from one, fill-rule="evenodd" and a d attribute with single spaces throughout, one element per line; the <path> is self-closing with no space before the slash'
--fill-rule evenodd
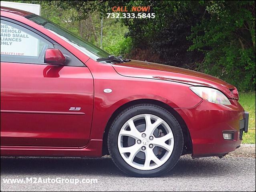
<path id="1" fill-rule="evenodd" d="M 112 66 L 122 76 L 168 80 L 193 86 L 208 86 L 222 91 L 228 98 L 238 99 L 238 94 L 234 93 L 237 92 L 234 86 L 204 73 L 137 60 L 112 64 Z"/>

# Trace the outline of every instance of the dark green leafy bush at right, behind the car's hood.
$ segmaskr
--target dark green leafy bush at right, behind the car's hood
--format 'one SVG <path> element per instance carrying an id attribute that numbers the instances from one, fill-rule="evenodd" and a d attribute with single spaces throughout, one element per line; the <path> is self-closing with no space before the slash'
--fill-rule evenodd
<path id="1" fill-rule="evenodd" d="M 204 52 L 203 72 L 255 90 L 255 2 L 204 2 L 207 13 L 192 27 L 189 50 Z"/>

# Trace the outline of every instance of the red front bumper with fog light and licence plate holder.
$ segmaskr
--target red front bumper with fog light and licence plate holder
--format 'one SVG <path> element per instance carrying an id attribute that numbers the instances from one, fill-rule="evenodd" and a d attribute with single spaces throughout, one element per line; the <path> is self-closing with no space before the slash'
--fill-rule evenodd
<path id="1" fill-rule="evenodd" d="M 192 157 L 223 156 L 239 148 L 243 132 L 248 131 L 249 114 L 237 100 L 225 106 L 202 100 L 194 108 L 175 109 L 185 121 L 192 141 Z M 225 140 L 223 132 L 232 132 Z"/>

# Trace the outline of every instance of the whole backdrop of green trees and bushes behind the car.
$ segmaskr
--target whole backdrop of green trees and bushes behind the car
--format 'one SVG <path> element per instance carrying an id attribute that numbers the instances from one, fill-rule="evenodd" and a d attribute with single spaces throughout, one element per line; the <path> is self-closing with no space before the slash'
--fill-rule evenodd
<path id="1" fill-rule="evenodd" d="M 255 90 L 254 1 L 16 1 L 111 54 L 204 72 Z M 106 18 L 113 6 L 151 6 L 156 17 Z"/>

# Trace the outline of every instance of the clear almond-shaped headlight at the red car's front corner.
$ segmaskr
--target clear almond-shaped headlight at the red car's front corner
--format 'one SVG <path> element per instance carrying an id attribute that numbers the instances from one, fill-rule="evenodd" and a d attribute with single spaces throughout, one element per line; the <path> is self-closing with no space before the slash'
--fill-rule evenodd
<path id="1" fill-rule="evenodd" d="M 191 91 L 211 103 L 231 105 L 228 98 L 220 91 L 208 87 L 189 87 Z"/>

